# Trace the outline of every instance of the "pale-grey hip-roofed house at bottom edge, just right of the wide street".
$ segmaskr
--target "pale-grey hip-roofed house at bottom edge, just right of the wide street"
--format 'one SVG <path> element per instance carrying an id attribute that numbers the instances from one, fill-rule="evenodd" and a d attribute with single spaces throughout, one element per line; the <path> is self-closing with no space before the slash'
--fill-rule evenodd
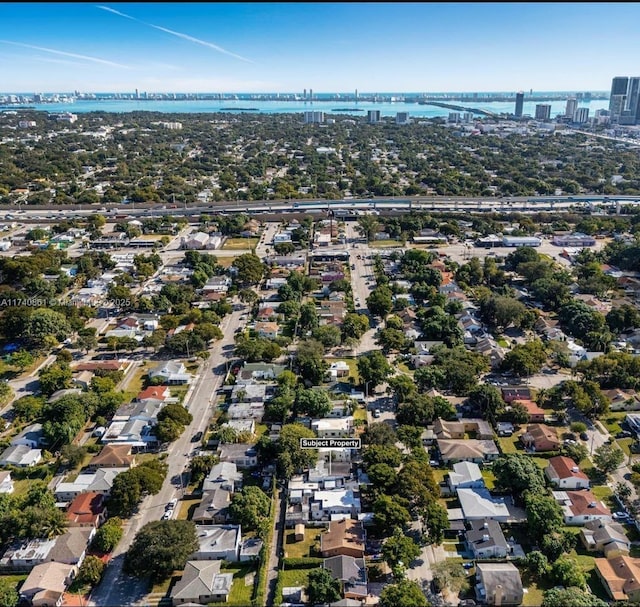
<path id="1" fill-rule="evenodd" d="M 221 564 L 218 560 L 187 561 L 182 577 L 171 591 L 174 607 L 226 602 L 233 584 L 233 573 L 220 573 Z"/>

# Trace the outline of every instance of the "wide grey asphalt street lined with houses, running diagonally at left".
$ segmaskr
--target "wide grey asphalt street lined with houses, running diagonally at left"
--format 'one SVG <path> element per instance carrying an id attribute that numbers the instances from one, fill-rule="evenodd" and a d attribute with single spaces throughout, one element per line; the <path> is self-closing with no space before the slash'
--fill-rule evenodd
<path id="1" fill-rule="evenodd" d="M 233 344 L 234 330 L 240 324 L 243 310 L 234 311 L 223 319 L 221 329 L 224 338 L 210 348 L 211 355 L 201 366 L 198 378 L 195 380 L 190 395 L 185 399 L 185 405 L 193 415 L 193 421 L 178 440 L 167 450 L 166 463 L 169 466 L 167 477 L 162 489 L 157 495 L 148 496 L 140 504 L 138 513 L 129 519 L 124 530 L 124 536 L 113 551 L 111 561 L 105 571 L 102 582 L 97 586 L 87 605 L 89 607 L 118 607 L 136 605 L 147 594 L 147 582 L 125 575 L 122 571 L 124 553 L 129 549 L 136 533 L 148 522 L 159 520 L 164 513 L 165 505 L 173 497 L 182 496 L 181 480 L 187 469 L 194 444 L 192 436 L 204 431 L 209 423 L 212 397 L 224 381 L 227 359 L 224 346 Z M 176 506 L 176 511 L 180 504 Z"/>

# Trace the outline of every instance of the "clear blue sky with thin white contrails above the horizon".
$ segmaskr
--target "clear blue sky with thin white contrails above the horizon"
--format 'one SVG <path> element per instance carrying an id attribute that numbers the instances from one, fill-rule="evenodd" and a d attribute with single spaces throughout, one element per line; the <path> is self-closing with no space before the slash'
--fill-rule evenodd
<path id="1" fill-rule="evenodd" d="M 608 90 L 640 75 L 638 24 L 640 3 L 0 3 L 0 90 Z"/>

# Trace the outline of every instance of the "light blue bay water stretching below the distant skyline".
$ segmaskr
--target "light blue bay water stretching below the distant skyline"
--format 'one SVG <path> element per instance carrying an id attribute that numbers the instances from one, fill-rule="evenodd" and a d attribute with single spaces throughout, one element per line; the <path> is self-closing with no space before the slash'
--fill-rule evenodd
<path id="1" fill-rule="evenodd" d="M 523 113 L 531 116 L 535 115 L 535 106 L 538 102 L 526 102 L 523 105 Z M 566 101 L 549 101 L 543 102 L 551 105 L 551 116 L 564 114 Z M 473 107 L 476 109 L 487 110 L 495 114 L 513 113 L 515 103 L 511 102 L 452 102 L 452 105 L 461 107 Z M 4 109 L 20 109 L 20 105 L 3 106 Z M 368 110 L 379 110 L 383 117 L 395 117 L 396 112 L 408 112 L 410 116 L 415 118 L 436 118 L 446 117 L 449 112 L 445 108 L 418 105 L 417 103 L 404 102 L 354 102 L 354 101 L 254 101 L 254 100 L 77 100 L 74 103 L 30 103 L 26 107 L 35 108 L 45 112 L 73 112 L 75 114 L 84 114 L 87 112 L 109 112 L 109 113 L 128 113 L 128 112 L 162 112 L 174 114 L 206 114 L 223 111 L 242 112 L 243 109 L 252 108 L 256 111 L 247 112 L 254 114 L 296 114 L 308 110 L 323 111 L 325 117 L 330 118 L 332 114 L 353 116 L 362 116 L 367 114 Z M 589 103 L 579 103 L 578 107 L 588 107 L 589 115 L 593 116 L 596 110 L 608 109 L 609 101 L 606 99 L 593 100 Z M 340 110 L 340 111 L 334 111 Z"/>

